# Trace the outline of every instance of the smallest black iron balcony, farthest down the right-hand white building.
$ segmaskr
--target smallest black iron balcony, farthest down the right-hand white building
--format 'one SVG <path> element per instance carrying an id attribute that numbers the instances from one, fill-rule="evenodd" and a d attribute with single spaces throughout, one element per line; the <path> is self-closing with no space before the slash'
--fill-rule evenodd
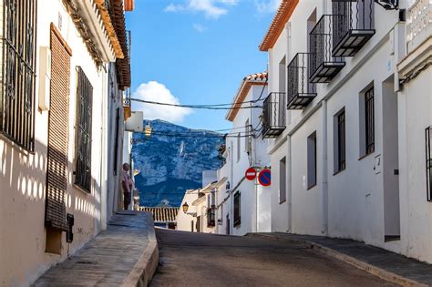
<path id="1" fill-rule="evenodd" d="M 285 129 L 285 93 L 270 93 L 262 108 L 262 138 L 276 138 Z"/>

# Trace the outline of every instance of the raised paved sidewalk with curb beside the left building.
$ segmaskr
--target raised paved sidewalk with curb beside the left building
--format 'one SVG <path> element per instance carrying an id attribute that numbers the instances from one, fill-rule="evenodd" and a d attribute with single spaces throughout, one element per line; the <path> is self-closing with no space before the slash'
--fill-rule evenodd
<path id="1" fill-rule="evenodd" d="M 107 231 L 48 270 L 34 286 L 147 286 L 158 261 L 151 215 L 125 211 L 112 217 Z"/>

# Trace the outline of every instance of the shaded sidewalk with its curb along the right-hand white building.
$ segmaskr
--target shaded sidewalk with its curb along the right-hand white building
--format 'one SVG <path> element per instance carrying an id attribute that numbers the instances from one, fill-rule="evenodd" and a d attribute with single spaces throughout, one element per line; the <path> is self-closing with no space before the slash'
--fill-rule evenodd
<path id="1" fill-rule="evenodd" d="M 307 245 L 388 282 L 403 286 L 432 286 L 432 265 L 363 242 L 279 232 L 250 233 L 248 236 Z"/>

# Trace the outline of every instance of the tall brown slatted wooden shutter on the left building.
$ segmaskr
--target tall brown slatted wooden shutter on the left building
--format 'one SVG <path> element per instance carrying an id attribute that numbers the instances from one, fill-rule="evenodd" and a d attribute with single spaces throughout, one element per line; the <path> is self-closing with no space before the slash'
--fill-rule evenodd
<path id="1" fill-rule="evenodd" d="M 70 49 L 51 26 L 51 96 L 46 170 L 46 227 L 67 230 L 65 196 L 69 141 Z"/>

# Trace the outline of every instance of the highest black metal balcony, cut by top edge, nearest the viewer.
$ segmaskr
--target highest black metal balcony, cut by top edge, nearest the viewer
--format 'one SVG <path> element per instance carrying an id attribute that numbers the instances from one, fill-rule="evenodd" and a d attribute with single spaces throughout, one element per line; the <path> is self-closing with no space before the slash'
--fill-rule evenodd
<path id="1" fill-rule="evenodd" d="M 333 0 L 333 56 L 355 56 L 375 35 L 374 0 Z"/>

